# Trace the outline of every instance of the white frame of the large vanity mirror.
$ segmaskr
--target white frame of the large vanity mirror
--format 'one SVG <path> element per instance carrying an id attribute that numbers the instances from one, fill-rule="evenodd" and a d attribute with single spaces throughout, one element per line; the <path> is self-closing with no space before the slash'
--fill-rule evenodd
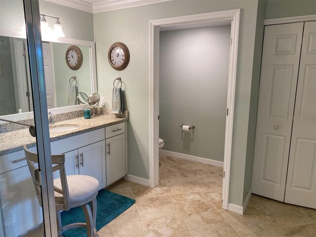
<path id="1" fill-rule="evenodd" d="M 0 29 L 0 36 L 5 37 L 14 37 L 20 39 L 26 39 L 26 34 L 23 34 L 20 31 L 12 31 L 8 29 Z M 87 40 L 76 40 L 70 38 L 47 38 L 43 37 L 42 42 L 55 42 L 55 43 L 68 43 L 68 44 L 77 44 L 82 46 L 89 46 L 90 47 L 90 59 L 91 59 L 91 88 L 92 94 L 97 93 L 97 71 L 96 71 L 96 55 L 95 55 L 95 42 L 94 41 L 87 41 Z M 66 107 L 59 107 L 48 109 L 48 112 L 52 112 L 54 114 L 66 113 L 66 112 L 73 112 L 84 109 L 88 104 L 83 105 L 72 105 Z M 0 118 L 6 118 L 13 121 L 24 120 L 33 118 L 33 112 L 25 112 L 21 114 L 12 114 L 12 115 L 4 115 L 0 116 Z M 4 123 L 0 121 L 0 123 Z"/>

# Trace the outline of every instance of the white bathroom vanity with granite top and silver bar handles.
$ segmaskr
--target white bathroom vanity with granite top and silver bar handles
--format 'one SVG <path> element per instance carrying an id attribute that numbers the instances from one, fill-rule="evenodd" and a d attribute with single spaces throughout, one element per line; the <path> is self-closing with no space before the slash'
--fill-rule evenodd
<path id="1" fill-rule="evenodd" d="M 67 175 L 92 176 L 99 181 L 99 190 L 103 189 L 127 173 L 126 120 L 101 115 L 92 119 L 74 118 L 58 122 L 51 126 L 61 127 L 61 131 L 50 131 L 51 153 L 65 154 Z M 77 128 L 63 131 L 62 127 L 69 125 Z M 42 221 L 41 207 L 22 150 L 25 143 L 36 152 L 35 138 L 27 130 L 1 134 L 0 219 L 4 222 L 5 232 L 12 237 L 28 232 Z M 53 175 L 54 179 L 58 178 L 58 171 Z"/>

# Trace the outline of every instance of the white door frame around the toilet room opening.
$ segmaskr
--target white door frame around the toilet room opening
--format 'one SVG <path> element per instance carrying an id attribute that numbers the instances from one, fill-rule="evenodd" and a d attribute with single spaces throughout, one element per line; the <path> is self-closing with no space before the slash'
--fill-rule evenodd
<path id="1" fill-rule="evenodd" d="M 237 51 L 240 9 L 210 12 L 196 15 L 172 17 L 150 21 L 149 26 L 149 87 L 150 87 L 150 124 L 149 124 L 149 172 L 150 186 L 159 183 L 159 32 L 163 30 L 190 29 L 214 25 L 231 24 L 231 48 L 229 59 L 228 94 L 223 181 L 223 208 L 228 209 L 229 181 L 231 168 L 235 87 L 237 75 Z"/>

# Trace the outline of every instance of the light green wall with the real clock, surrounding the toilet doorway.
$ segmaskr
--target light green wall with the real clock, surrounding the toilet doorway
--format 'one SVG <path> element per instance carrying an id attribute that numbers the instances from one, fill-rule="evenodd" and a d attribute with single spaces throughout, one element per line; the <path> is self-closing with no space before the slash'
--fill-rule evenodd
<path id="1" fill-rule="evenodd" d="M 257 7 L 257 0 L 173 0 L 93 14 L 98 91 L 106 97 L 106 107 L 111 108 L 113 80 L 121 77 L 124 83 L 125 109 L 130 112 L 129 174 L 149 178 L 149 21 L 240 8 L 229 202 L 242 205 Z M 109 47 L 116 41 L 124 42 L 131 55 L 128 67 L 120 72 L 107 59 Z"/>

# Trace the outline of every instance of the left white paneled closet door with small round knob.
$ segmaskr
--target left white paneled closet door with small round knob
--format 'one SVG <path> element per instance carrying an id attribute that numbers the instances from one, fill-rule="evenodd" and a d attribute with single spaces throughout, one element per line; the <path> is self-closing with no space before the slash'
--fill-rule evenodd
<path id="1" fill-rule="evenodd" d="M 252 193 L 284 201 L 304 23 L 265 27 Z"/>

